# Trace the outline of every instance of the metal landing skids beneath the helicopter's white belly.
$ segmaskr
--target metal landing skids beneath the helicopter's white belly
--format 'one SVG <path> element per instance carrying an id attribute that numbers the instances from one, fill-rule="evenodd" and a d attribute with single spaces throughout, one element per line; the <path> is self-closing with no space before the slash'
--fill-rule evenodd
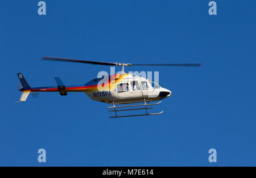
<path id="1" fill-rule="evenodd" d="M 159 113 L 148 113 L 148 109 L 152 109 L 153 107 L 147 107 L 147 106 L 151 106 L 151 105 L 158 105 L 160 103 L 162 103 L 162 101 L 159 101 L 158 103 L 152 103 L 152 104 L 146 104 L 146 102 L 150 102 L 148 100 L 141 101 L 144 104 L 137 104 L 137 105 L 125 105 L 125 106 L 119 106 L 116 107 L 115 104 L 125 104 L 125 103 L 112 103 L 113 107 L 108 107 L 109 109 L 114 109 L 111 110 L 109 112 L 115 112 L 115 116 L 110 116 L 110 118 L 119 118 L 119 117 L 135 117 L 135 116 L 154 116 L 154 115 L 160 115 L 163 113 L 163 111 L 159 112 Z M 130 108 L 130 107 L 144 107 L 144 108 L 133 108 L 133 109 L 119 109 L 119 108 Z M 117 112 L 120 111 L 135 111 L 135 110 L 146 110 L 145 114 L 142 115 L 126 115 L 126 116 L 117 116 Z"/>

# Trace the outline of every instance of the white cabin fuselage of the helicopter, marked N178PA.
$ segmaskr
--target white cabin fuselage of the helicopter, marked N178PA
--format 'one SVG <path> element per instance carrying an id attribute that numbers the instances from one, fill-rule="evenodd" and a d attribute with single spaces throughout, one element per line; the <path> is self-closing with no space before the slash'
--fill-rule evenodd
<path id="1" fill-rule="evenodd" d="M 112 90 L 86 92 L 90 99 L 104 103 L 136 103 L 143 100 L 158 101 L 170 97 L 171 91 L 143 77 L 128 75 L 113 82 Z"/>

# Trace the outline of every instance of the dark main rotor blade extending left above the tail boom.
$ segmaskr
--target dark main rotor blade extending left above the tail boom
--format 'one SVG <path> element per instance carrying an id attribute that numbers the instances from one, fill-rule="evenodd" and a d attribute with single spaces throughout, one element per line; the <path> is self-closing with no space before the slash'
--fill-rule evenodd
<path id="1" fill-rule="evenodd" d="M 41 60 L 91 63 L 91 64 L 95 64 L 95 65 L 105 65 L 105 66 L 117 66 L 118 65 L 118 63 L 111 63 L 111 62 L 83 61 L 83 60 L 74 60 L 74 59 L 69 59 L 69 58 L 48 57 L 48 56 L 42 57 Z"/>

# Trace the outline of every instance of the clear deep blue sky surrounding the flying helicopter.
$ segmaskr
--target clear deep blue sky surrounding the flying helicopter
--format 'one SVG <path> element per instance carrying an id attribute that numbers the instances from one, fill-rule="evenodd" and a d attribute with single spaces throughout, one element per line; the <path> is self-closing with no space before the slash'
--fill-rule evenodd
<path id="1" fill-rule="evenodd" d="M 216 16 L 209 1 L 51 0 L 46 16 L 38 2 L 0 1 L 0 166 L 255 166 L 255 1 L 216 1 Z M 160 116 L 113 119 L 83 93 L 14 103 L 19 71 L 32 87 L 109 71 L 43 56 L 204 65 L 126 68 L 159 71 L 172 96 Z"/>

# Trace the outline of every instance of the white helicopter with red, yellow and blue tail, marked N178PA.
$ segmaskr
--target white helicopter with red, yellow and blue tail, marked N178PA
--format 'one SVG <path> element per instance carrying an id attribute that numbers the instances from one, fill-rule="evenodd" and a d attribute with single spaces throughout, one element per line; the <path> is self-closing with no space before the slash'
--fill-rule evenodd
<path id="1" fill-rule="evenodd" d="M 162 99 L 169 98 L 172 92 L 163 88 L 158 83 L 148 80 L 142 76 L 135 76 L 125 73 L 125 66 L 189 66 L 199 67 L 201 63 L 169 63 L 169 64 L 131 64 L 131 63 L 112 63 L 112 62 L 97 62 L 97 61 L 84 61 L 75 60 L 71 58 L 59 58 L 45 56 L 42 60 L 48 61 L 65 61 L 65 62 L 79 62 L 89 63 L 93 65 L 105 66 L 122 66 L 122 71 L 119 74 L 113 74 L 108 77 L 95 78 L 88 83 L 77 86 L 65 86 L 59 77 L 55 77 L 56 86 L 53 87 L 30 87 L 27 80 L 22 73 L 18 73 L 18 77 L 22 88 L 20 100 L 16 103 L 27 100 L 28 95 L 34 92 L 59 92 L 61 96 L 66 96 L 68 92 L 85 92 L 90 99 L 101 101 L 103 103 L 112 104 L 109 112 L 114 112 L 114 116 L 118 117 L 134 117 L 134 116 L 154 116 L 160 115 L 163 111 L 158 113 L 149 113 L 148 109 L 152 109 L 153 105 L 162 103 Z M 157 103 L 150 102 L 157 101 Z M 135 104 L 136 103 L 136 104 Z M 142 104 L 137 104 L 142 103 Z M 145 110 L 146 113 L 137 115 L 117 115 L 121 111 L 137 111 Z"/>

